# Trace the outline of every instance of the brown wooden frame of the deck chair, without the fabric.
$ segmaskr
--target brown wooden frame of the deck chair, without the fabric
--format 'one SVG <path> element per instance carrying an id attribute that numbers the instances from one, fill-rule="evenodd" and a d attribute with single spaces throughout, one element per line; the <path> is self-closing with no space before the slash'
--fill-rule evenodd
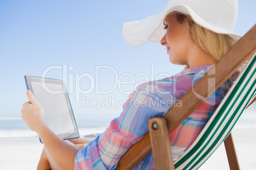
<path id="1" fill-rule="evenodd" d="M 146 155 L 152 151 L 156 169 L 174 169 L 171 147 L 169 145 L 169 133 L 183 122 L 188 115 L 196 110 L 203 100 L 198 95 L 207 98 L 216 91 L 243 63 L 256 52 L 256 25 L 247 32 L 211 69 L 199 79 L 199 81 L 185 95 L 180 98 L 183 107 L 171 107 L 161 118 L 153 118 L 149 121 L 149 132 L 133 145 L 119 160 L 117 169 L 132 169 Z M 214 74 L 213 74 L 214 73 Z M 227 74 L 223 74 L 227 73 Z M 208 79 L 215 79 L 215 84 L 205 86 Z M 193 98 L 193 100 L 191 100 Z M 253 101 L 255 101 L 254 98 Z M 250 105 L 253 103 L 250 103 Z M 179 114 L 176 114 L 179 113 Z M 231 169 L 239 169 L 236 150 L 232 135 L 224 141 Z M 164 156 L 162 156 L 164 155 Z"/>

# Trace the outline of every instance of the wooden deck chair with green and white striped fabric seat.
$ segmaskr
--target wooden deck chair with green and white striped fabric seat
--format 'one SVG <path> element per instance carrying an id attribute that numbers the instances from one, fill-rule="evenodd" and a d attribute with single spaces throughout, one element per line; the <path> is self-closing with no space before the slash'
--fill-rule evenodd
<path id="1" fill-rule="evenodd" d="M 171 107 L 163 117 L 148 121 L 149 132 L 121 157 L 117 169 L 132 169 L 150 152 L 155 169 L 198 169 L 223 141 L 230 168 L 239 169 L 231 130 L 245 108 L 256 100 L 255 54 L 256 25 L 180 98 L 183 107 Z M 240 74 L 204 129 L 188 150 L 173 162 L 169 133 L 203 103 L 194 91 L 206 98 L 237 71 Z M 215 78 L 215 84 L 205 86 L 210 78 Z"/>

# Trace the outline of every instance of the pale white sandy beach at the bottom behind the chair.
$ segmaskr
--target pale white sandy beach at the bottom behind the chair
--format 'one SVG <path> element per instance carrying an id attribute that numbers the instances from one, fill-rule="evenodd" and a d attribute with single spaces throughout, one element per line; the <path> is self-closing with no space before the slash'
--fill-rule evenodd
<path id="1" fill-rule="evenodd" d="M 232 133 L 241 169 L 255 169 L 256 129 L 235 128 Z M 42 149 L 38 140 L 0 141 L 0 169 L 36 169 Z M 229 169 L 223 144 L 200 169 Z"/>

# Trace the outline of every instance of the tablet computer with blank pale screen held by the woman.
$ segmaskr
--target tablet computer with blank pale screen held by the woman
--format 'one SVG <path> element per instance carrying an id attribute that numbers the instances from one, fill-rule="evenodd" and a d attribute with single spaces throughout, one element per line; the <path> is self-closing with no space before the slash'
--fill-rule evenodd
<path id="1" fill-rule="evenodd" d="M 79 138 L 64 81 L 25 75 L 25 83 L 44 108 L 44 120 L 48 128 L 62 140 Z"/>

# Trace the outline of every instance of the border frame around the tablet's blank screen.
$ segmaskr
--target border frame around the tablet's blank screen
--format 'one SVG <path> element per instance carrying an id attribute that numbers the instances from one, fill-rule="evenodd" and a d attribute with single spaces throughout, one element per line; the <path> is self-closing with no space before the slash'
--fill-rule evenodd
<path id="1" fill-rule="evenodd" d="M 66 103 L 68 105 L 69 114 L 70 114 L 71 121 L 72 121 L 73 128 L 74 128 L 75 132 L 57 134 L 57 136 L 59 136 L 62 140 L 71 140 L 71 139 L 74 139 L 74 138 L 79 138 L 80 134 L 79 134 L 79 131 L 78 131 L 75 115 L 74 115 L 73 109 L 71 107 L 71 103 L 70 103 L 70 100 L 69 100 L 68 92 L 67 92 L 66 86 L 64 84 L 64 81 L 59 80 L 59 79 L 50 79 L 50 78 L 46 78 L 46 77 L 36 77 L 36 76 L 31 76 L 31 75 L 25 75 L 24 78 L 25 78 L 25 83 L 26 83 L 27 89 L 30 90 L 33 94 L 34 94 L 34 91 L 32 89 L 32 84 L 31 84 L 32 81 L 46 83 L 46 84 L 47 83 L 52 83 L 52 84 L 62 85 L 63 93 L 64 93 L 64 96 L 66 98 Z M 42 143 L 41 138 L 39 138 L 39 140 Z"/>

